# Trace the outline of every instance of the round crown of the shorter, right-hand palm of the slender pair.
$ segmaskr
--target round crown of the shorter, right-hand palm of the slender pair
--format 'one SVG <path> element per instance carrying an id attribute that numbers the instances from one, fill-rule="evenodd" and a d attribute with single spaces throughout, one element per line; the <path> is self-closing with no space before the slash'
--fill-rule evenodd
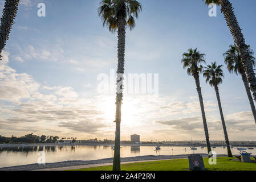
<path id="1" fill-rule="evenodd" d="M 217 66 L 216 62 L 205 67 L 203 76 L 206 78 L 206 82 L 209 82 L 210 86 L 217 86 L 222 83 L 222 78 L 224 78 L 222 67 L 223 65 Z"/>

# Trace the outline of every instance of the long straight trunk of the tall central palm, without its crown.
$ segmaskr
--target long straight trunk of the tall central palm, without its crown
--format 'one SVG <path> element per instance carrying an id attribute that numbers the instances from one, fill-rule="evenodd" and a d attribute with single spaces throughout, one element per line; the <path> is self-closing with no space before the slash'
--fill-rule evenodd
<path id="1" fill-rule="evenodd" d="M 116 137 L 113 159 L 113 171 L 121 170 L 120 163 L 120 123 L 121 105 L 123 101 L 123 74 L 124 74 L 124 52 L 125 52 L 125 20 L 123 16 L 118 19 L 118 66 L 117 66 L 117 90 L 116 90 Z"/>

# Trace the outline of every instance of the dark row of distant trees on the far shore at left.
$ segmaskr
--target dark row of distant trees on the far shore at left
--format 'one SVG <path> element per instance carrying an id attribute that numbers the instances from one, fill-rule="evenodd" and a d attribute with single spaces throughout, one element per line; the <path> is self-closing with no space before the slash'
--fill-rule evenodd
<path id="1" fill-rule="evenodd" d="M 55 143 L 58 139 L 58 136 L 37 136 L 33 135 L 33 133 L 23 137 L 3 137 L 0 135 L 0 143 Z"/>

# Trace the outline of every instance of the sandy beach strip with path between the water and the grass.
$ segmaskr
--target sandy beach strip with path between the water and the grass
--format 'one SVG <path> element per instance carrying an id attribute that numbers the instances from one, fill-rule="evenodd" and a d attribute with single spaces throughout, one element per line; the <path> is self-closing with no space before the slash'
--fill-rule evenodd
<path id="1" fill-rule="evenodd" d="M 200 154 L 204 158 L 208 157 L 208 154 Z M 188 158 L 189 155 L 147 155 L 147 156 L 136 156 L 136 157 L 128 157 L 121 158 L 121 163 L 136 163 L 136 162 L 149 162 L 153 160 L 170 160 L 170 159 L 184 159 Z M 227 155 L 217 155 L 217 157 L 226 157 Z M 105 166 L 112 165 L 113 158 L 107 159 L 99 159 L 99 160 L 70 160 L 64 162 L 56 162 L 56 163 L 46 163 L 44 165 L 40 164 L 28 164 L 22 166 L 11 166 L 11 167 L 3 167 L 0 168 L 0 171 L 35 171 L 35 170 L 44 170 L 44 171 L 61 171 L 61 168 L 86 168 L 91 166 Z M 89 166 L 90 165 L 90 166 Z M 59 170 L 58 170 L 59 169 Z M 66 170 L 67 170 L 66 169 Z"/>

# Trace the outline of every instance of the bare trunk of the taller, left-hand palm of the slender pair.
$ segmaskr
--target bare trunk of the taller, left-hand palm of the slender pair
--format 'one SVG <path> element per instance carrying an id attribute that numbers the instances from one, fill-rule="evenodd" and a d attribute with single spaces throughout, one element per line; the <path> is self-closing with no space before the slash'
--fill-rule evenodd
<path id="1" fill-rule="evenodd" d="M 209 133 L 208 133 L 208 127 L 207 127 L 207 122 L 206 122 L 206 117 L 205 117 L 205 107 L 204 107 L 204 101 L 202 99 L 202 92 L 201 92 L 199 75 L 194 75 L 194 80 L 196 81 L 197 93 L 198 93 L 200 106 L 201 106 L 201 112 L 202 112 L 202 121 L 204 123 L 206 145 L 207 145 L 208 154 L 209 154 L 209 152 L 212 151 L 212 150 L 210 148 Z"/>

